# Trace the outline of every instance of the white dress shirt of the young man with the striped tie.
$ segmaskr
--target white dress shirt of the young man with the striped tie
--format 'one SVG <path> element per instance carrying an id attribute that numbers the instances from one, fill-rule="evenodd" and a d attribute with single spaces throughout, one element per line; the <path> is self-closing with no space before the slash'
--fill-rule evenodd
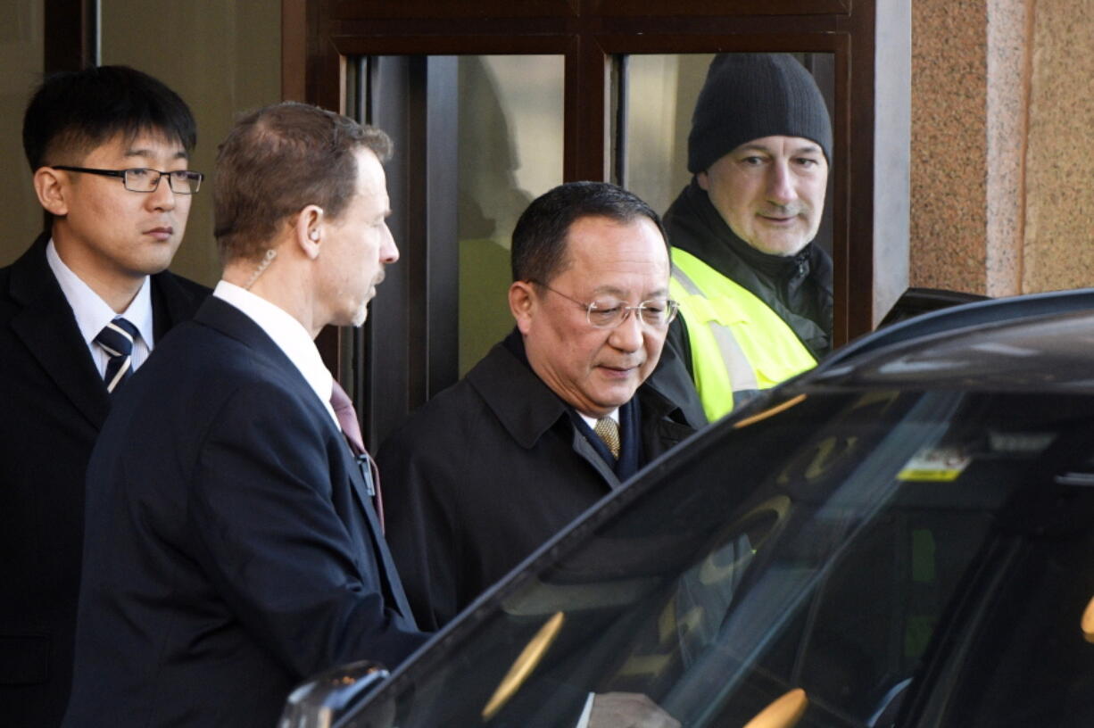
<path id="1" fill-rule="evenodd" d="M 61 286 L 61 293 L 68 301 L 72 313 L 75 315 L 75 324 L 80 327 L 88 351 L 91 352 L 91 360 L 98 369 L 98 376 L 106 374 L 106 363 L 110 355 L 106 350 L 95 343 L 95 337 L 103 328 L 114 320 L 115 316 L 124 316 L 127 321 L 137 327 L 140 336 L 133 341 L 133 351 L 129 359 L 129 366 L 137 371 L 155 345 L 154 330 L 152 328 L 152 282 L 148 275 L 144 277 L 144 284 L 129 303 L 129 307 L 120 314 L 110 308 L 97 293 L 91 290 L 80 277 L 72 272 L 72 269 L 65 265 L 61 257 L 57 255 L 53 238 L 46 245 L 46 262 L 57 278 Z"/>

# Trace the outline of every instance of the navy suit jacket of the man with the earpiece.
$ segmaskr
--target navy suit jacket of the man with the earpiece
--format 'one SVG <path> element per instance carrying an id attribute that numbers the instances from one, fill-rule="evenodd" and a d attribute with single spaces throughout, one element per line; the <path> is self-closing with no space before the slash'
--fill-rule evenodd
<path id="1" fill-rule="evenodd" d="M 366 482 L 300 372 L 210 297 L 126 383 L 88 467 L 66 726 L 261 726 L 336 664 L 424 642 Z"/>

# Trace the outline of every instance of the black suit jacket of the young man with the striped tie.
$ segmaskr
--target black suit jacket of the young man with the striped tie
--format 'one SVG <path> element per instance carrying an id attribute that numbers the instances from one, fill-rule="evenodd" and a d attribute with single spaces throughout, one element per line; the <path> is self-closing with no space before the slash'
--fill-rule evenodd
<path id="1" fill-rule="evenodd" d="M 106 387 L 46 261 L 0 269 L 0 724 L 56 726 L 71 680 L 84 469 Z M 152 277 L 155 341 L 209 290 Z"/>

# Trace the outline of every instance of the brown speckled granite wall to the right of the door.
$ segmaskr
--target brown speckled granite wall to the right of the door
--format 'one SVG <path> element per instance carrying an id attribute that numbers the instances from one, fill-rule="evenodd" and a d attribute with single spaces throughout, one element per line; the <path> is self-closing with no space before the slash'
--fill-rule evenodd
<path id="1" fill-rule="evenodd" d="M 910 284 L 1094 285 L 1094 2 L 912 3 Z"/>

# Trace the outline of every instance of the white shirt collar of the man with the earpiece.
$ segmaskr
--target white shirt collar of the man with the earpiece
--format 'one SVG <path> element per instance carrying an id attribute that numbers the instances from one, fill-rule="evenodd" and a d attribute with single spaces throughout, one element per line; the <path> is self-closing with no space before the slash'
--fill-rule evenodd
<path id="1" fill-rule="evenodd" d="M 334 377 L 323 363 L 319 350 L 315 348 L 315 342 L 304 325 L 283 308 L 228 281 L 220 281 L 212 294 L 246 314 L 274 340 L 274 343 L 300 371 L 304 380 L 315 391 L 315 396 L 319 398 L 327 413 L 337 424 L 338 418 L 330 407 L 330 383 Z"/>

